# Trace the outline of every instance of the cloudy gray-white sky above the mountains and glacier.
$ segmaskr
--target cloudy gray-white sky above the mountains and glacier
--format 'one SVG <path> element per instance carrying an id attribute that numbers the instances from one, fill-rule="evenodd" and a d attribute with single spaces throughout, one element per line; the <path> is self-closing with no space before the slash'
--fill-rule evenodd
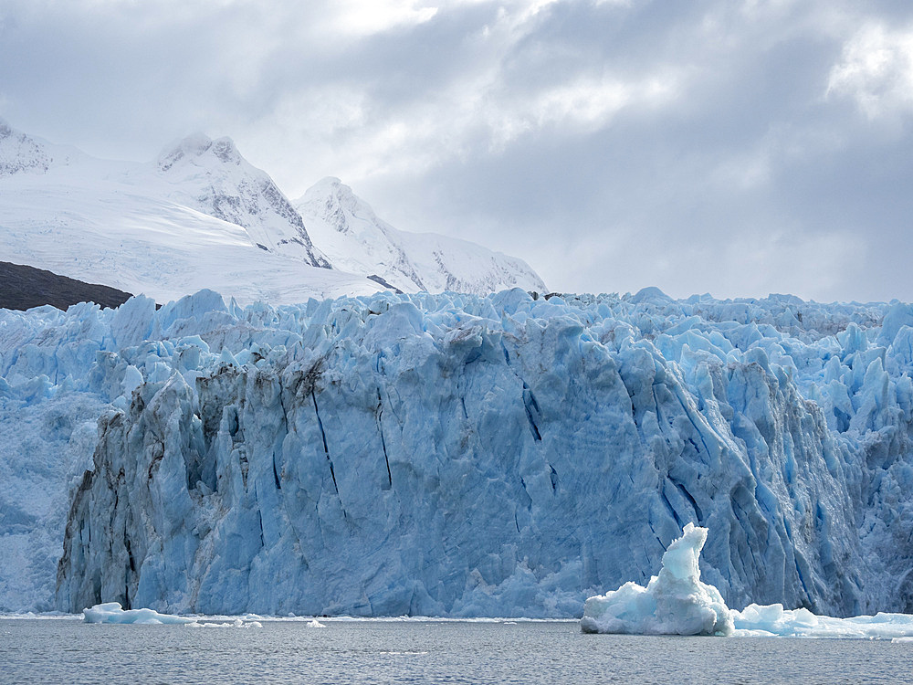
<path id="1" fill-rule="evenodd" d="M 228 135 L 553 290 L 913 300 L 907 0 L 4 0 L 0 116 Z"/>

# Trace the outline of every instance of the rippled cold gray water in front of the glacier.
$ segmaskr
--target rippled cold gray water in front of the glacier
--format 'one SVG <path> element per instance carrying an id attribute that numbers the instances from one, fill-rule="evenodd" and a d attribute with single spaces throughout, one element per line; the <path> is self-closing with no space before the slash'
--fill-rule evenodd
<path id="1" fill-rule="evenodd" d="M 584 635 L 577 622 L 0 620 L 3 682 L 909 682 L 913 643 Z"/>

